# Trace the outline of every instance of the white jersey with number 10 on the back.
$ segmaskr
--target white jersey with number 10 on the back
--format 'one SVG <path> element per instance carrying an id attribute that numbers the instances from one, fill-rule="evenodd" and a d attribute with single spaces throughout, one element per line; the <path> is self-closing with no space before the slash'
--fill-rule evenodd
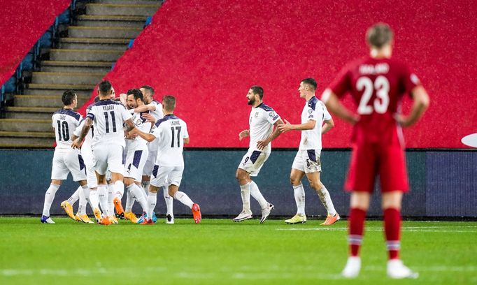
<path id="1" fill-rule="evenodd" d="M 71 109 L 59 109 L 51 117 L 57 149 L 71 149 L 73 132 L 80 125 L 81 115 Z"/>

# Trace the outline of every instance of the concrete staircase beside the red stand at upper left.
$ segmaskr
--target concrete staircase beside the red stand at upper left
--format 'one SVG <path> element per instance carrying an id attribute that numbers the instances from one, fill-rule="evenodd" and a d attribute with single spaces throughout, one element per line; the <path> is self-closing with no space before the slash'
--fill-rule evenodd
<path id="1" fill-rule="evenodd" d="M 52 147 L 51 116 L 62 108 L 64 90 L 75 90 L 78 107 L 83 105 L 161 4 L 158 0 L 87 3 L 85 15 L 78 15 L 68 36 L 50 50 L 50 59 L 41 61 L 41 70 L 34 71 L 27 88 L 14 96 L 14 106 L 7 107 L 6 119 L 0 119 L 0 147 Z"/>

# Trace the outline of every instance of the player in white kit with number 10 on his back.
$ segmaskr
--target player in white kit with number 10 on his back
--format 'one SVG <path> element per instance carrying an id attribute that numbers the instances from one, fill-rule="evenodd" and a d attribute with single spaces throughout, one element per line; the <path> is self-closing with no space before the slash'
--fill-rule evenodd
<path id="1" fill-rule="evenodd" d="M 83 157 L 77 149 L 71 149 L 71 136 L 82 119 L 78 112 L 74 112 L 78 97 L 73 90 L 67 90 L 62 95 L 64 108 L 52 115 L 52 126 L 55 129 L 57 147 L 53 155 L 51 169 L 51 184 L 45 193 L 45 203 L 40 221 L 46 224 L 55 224 L 50 218 L 50 207 L 55 199 L 55 194 L 71 173 L 73 180 L 77 181 L 83 189 L 87 189 L 86 169 Z"/>

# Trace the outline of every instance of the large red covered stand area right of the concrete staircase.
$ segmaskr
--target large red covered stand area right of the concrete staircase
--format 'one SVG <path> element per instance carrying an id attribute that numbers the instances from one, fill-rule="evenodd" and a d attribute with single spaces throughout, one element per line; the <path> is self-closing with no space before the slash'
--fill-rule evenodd
<path id="1" fill-rule="evenodd" d="M 475 133 L 477 122 L 471 10 L 469 2 L 166 1 L 106 79 L 116 92 L 148 84 L 157 99 L 178 96 L 178 115 L 191 122 L 191 147 L 246 147 L 237 134 L 248 127 L 248 87 L 263 85 L 265 103 L 297 122 L 299 80 L 316 78 L 320 95 L 346 62 L 366 54 L 369 24 L 385 20 L 397 31 L 395 57 L 408 62 L 432 98 L 418 126 L 405 130 L 407 146 L 465 147 L 460 139 Z M 131 74 L 138 64 L 143 72 Z M 450 113 L 459 114 L 458 128 L 443 116 Z M 350 133 L 337 120 L 325 147 L 349 147 Z M 273 146 L 298 141 L 299 133 L 289 133 Z"/>

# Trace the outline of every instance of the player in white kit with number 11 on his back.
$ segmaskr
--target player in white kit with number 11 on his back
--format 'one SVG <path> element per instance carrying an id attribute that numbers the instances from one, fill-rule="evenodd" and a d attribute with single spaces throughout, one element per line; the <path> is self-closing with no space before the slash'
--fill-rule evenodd
<path id="1" fill-rule="evenodd" d="M 91 106 L 86 115 L 85 126 L 79 138 L 73 141 L 71 147 L 79 148 L 81 142 L 94 124 L 94 136 L 92 150 L 94 154 L 94 170 L 98 179 L 97 191 L 90 191 L 90 202 L 93 205 L 94 217 L 99 224 L 111 224 L 111 213 L 108 205 L 106 171 L 111 171 L 116 192 L 124 191 L 124 131 L 123 123 L 127 124 L 127 131 L 134 128 L 131 114 L 124 108 L 122 103 L 111 100 L 111 82 L 105 80 L 99 83 L 99 101 Z M 101 216 L 98 204 L 105 211 L 105 217 Z"/>

